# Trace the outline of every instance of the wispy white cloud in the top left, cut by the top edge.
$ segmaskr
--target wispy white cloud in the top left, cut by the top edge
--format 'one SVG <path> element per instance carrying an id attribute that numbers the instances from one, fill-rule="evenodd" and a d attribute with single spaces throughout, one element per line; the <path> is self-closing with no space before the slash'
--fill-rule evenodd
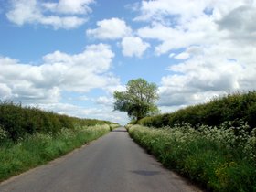
<path id="1" fill-rule="evenodd" d="M 38 0 L 12 0 L 6 13 L 9 21 L 18 26 L 40 24 L 55 29 L 80 27 L 87 21 L 93 0 L 59 0 L 58 3 L 42 3 Z M 82 16 L 79 16 L 82 15 Z"/>

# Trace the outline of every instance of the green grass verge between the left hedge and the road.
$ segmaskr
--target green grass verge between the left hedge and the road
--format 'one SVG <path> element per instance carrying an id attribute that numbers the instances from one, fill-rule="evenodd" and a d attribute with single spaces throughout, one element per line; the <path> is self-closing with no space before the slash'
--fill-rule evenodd
<path id="1" fill-rule="evenodd" d="M 74 129 L 63 128 L 57 134 L 27 134 L 16 142 L 5 139 L 0 144 L 0 181 L 65 155 L 73 149 L 109 133 L 116 126 L 117 124 L 112 124 L 112 126 L 109 124 L 89 127 L 75 126 Z M 112 128 L 110 129 L 110 127 Z"/>

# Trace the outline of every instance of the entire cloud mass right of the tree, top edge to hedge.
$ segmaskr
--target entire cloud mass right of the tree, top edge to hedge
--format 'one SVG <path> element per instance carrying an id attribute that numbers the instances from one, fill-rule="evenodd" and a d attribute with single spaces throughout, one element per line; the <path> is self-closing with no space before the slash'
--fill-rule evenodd
<path id="1" fill-rule="evenodd" d="M 137 35 L 158 41 L 156 54 L 176 59 L 159 87 L 165 112 L 256 89 L 255 13 L 247 0 L 142 2 L 134 20 L 149 24 Z"/>

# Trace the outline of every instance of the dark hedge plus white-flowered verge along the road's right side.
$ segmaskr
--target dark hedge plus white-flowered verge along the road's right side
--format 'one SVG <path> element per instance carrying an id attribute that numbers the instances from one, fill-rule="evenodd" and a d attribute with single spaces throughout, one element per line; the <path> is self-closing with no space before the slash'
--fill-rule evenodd
<path id="1" fill-rule="evenodd" d="M 138 123 L 129 133 L 166 167 L 212 191 L 256 191 L 256 91 Z"/>

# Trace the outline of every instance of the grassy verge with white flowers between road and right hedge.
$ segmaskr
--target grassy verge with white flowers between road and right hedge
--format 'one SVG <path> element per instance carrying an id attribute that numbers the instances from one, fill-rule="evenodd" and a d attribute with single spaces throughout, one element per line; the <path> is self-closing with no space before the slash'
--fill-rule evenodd
<path id="1" fill-rule="evenodd" d="M 166 167 L 220 192 L 256 191 L 256 129 L 189 124 L 173 128 L 129 125 L 133 140 Z M 234 132 L 236 130 L 236 132 Z M 237 133 L 239 131 L 239 133 Z"/>

